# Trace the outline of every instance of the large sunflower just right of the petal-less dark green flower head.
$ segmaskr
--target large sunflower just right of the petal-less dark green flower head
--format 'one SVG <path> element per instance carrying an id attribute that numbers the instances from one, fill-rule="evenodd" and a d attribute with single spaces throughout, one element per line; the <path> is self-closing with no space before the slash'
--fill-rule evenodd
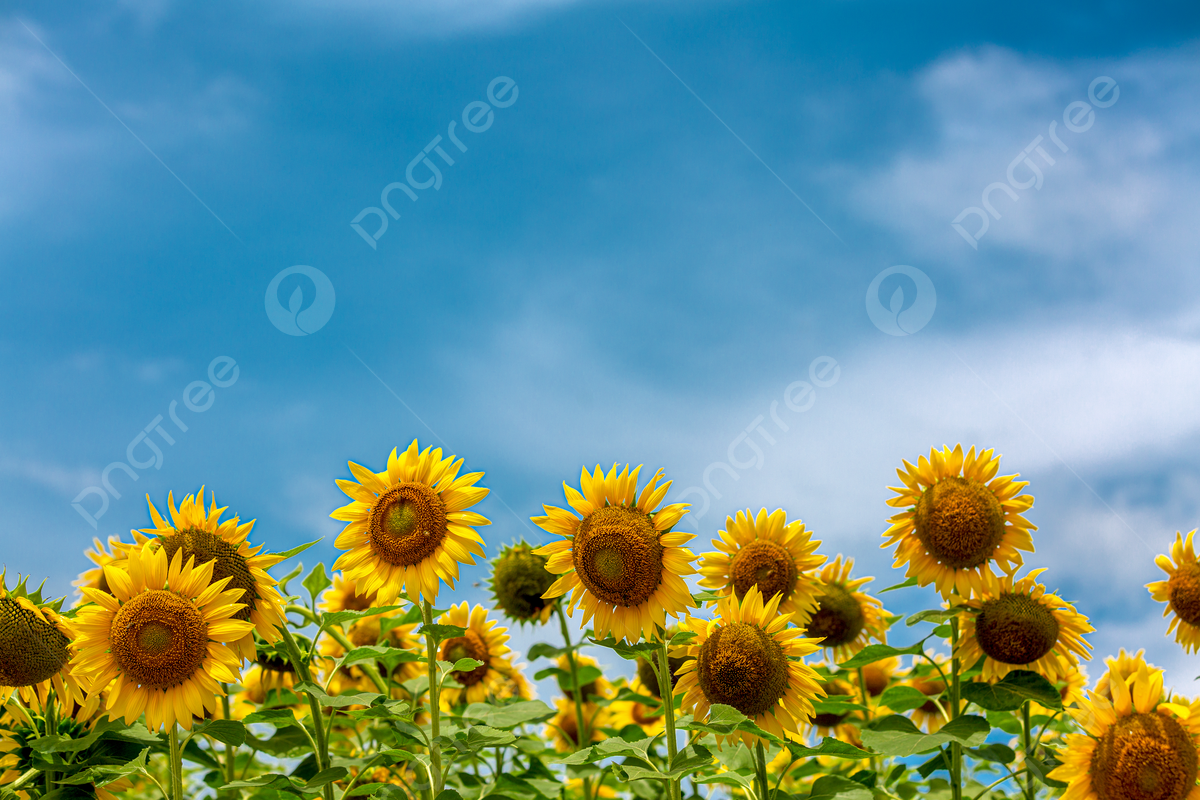
<path id="1" fill-rule="evenodd" d="M 560 575 L 542 595 L 571 593 L 569 610 L 583 607 L 583 624 L 593 616 L 596 638 L 612 633 L 636 642 L 652 638 L 655 625 L 666 627 L 666 615 L 679 616 L 695 608 L 683 576 L 692 575 L 695 558 L 686 547 L 692 534 L 672 531 L 688 510 L 686 503 L 659 505 L 671 481 L 659 486 L 662 470 L 637 493 L 641 465 L 629 465 L 607 475 L 598 465 L 594 475 L 580 475 L 581 492 L 563 483 L 566 501 L 580 517 L 565 509 L 542 506 L 545 517 L 533 517 L 542 529 L 565 539 L 534 553 L 550 557 L 546 569 Z M 658 510 L 656 510 L 658 509 Z"/>

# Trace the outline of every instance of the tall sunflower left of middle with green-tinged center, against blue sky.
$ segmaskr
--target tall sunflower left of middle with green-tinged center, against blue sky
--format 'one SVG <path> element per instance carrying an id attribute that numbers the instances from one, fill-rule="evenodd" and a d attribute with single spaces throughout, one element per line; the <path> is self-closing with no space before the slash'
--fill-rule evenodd
<path id="1" fill-rule="evenodd" d="M 335 542 L 346 552 L 334 569 L 360 593 L 388 604 L 401 593 L 414 603 L 433 602 L 442 582 L 454 589 L 460 564 L 484 557 L 475 527 L 492 523 L 467 509 L 487 489 L 475 486 L 482 473 L 458 475 L 462 458 L 443 458 L 440 447 L 419 451 L 413 439 L 403 453 L 392 449 L 382 473 L 354 462 L 349 468 L 356 480 L 337 486 L 353 503 L 329 516 L 347 523 Z"/>

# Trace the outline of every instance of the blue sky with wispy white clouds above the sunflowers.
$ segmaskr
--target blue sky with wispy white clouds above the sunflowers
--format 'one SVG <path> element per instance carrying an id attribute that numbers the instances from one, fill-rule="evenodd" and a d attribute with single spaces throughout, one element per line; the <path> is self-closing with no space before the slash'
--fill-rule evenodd
<path id="1" fill-rule="evenodd" d="M 11 4 L 2 561 L 65 594 L 91 536 L 204 483 L 272 549 L 326 537 L 305 560 L 328 564 L 346 461 L 414 437 L 487 473 L 494 553 L 545 541 L 528 517 L 582 464 L 662 467 L 678 497 L 750 428 L 761 464 L 743 443 L 709 473 L 696 549 L 784 507 L 878 588 L 901 579 L 877 547 L 894 469 L 962 441 L 1032 481 L 1027 564 L 1097 655 L 1145 646 L 1194 691 L 1142 584 L 1200 524 L 1198 23 L 1186 2 Z M 499 77 L 515 102 L 467 131 Z M 438 136 L 440 187 L 394 191 L 370 247 L 350 221 Z M 1038 136 L 1043 184 L 994 191 L 972 248 L 950 222 Z M 294 265 L 336 290 L 310 336 L 264 311 Z M 911 336 L 865 309 L 894 265 L 936 287 Z M 296 288 L 310 306 L 302 276 L 281 302 Z M 236 381 L 186 410 L 218 356 Z M 792 411 L 821 356 L 836 383 Z M 72 500 L 173 401 L 187 431 L 150 426 L 161 467 L 116 473 L 94 530 Z"/>

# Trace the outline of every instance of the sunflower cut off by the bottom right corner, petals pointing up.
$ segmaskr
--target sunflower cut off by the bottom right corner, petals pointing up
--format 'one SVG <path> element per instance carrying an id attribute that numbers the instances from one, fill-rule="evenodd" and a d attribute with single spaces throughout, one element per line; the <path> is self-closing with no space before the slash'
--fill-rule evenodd
<path id="1" fill-rule="evenodd" d="M 1072 712 L 1086 733 L 1067 736 L 1050 772 L 1068 784 L 1063 800 L 1200 800 L 1200 702 L 1160 702 L 1163 672 L 1145 662 L 1111 688 L 1111 700 L 1093 693 Z"/>

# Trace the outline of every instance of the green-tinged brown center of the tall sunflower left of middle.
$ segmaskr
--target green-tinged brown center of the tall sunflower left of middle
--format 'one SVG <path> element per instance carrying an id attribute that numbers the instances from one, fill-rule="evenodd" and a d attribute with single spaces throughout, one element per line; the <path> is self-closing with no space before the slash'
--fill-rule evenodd
<path id="1" fill-rule="evenodd" d="M 446 537 L 446 505 L 425 483 L 401 483 L 371 507 L 371 549 L 392 566 L 420 564 Z"/>

